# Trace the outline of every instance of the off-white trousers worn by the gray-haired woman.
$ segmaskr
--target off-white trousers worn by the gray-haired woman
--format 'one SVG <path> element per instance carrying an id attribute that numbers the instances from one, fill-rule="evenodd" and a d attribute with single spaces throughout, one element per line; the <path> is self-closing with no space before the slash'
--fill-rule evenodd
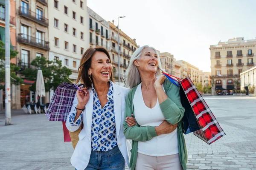
<path id="1" fill-rule="evenodd" d="M 179 154 L 148 156 L 138 153 L 135 170 L 183 170 Z"/>

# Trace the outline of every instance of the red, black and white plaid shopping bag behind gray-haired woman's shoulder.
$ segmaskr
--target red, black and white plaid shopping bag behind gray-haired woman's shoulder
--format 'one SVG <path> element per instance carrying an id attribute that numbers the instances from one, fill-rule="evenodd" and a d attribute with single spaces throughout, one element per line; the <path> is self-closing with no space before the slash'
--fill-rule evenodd
<path id="1" fill-rule="evenodd" d="M 179 79 L 175 77 L 179 79 L 178 81 L 174 78 L 174 76 L 166 73 L 164 74 L 168 79 L 172 79 L 173 82 L 177 82 L 178 84 L 180 84 L 180 97 L 181 100 L 183 101 L 182 103 L 186 101 L 186 104 L 190 104 L 190 107 L 187 107 L 187 105 L 185 105 L 185 109 L 190 110 L 190 108 L 192 108 L 193 112 L 189 111 L 185 112 L 184 114 L 184 127 L 189 127 L 190 124 L 186 125 L 186 123 L 190 123 L 190 120 L 192 120 L 191 122 L 194 123 L 195 121 L 193 121 L 193 119 L 195 119 L 197 121 L 199 129 L 197 130 L 198 127 L 195 124 L 193 124 L 190 126 L 193 128 L 189 128 L 189 130 L 190 132 L 192 131 L 195 136 L 197 136 L 199 139 L 202 139 L 207 144 L 212 144 L 213 142 L 224 136 L 224 131 L 222 130 L 212 111 L 209 109 L 207 103 L 204 101 L 203 97 L 196 89 L 191 79 L 189 77 L 186 77 L 184 79 Z M 175 85 L 177 84 L 175 83 Z M 184 120 L 186 119 L 188 119 L 188 122 L 184 122 Z M 184 130 L 184 127 L 183 132 L 186 130 Z"/>

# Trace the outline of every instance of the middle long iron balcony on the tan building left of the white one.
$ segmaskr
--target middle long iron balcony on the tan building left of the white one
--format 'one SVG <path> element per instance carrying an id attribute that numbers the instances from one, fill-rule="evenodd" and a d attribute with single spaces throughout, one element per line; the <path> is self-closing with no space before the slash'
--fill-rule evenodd
<path id="1" fill-rule="evenodd" d="M 49 50 L 49 42 L 38 39 L 36 37 L 31 37 L 26 34 L 18 34 L 17 41 L 26 44 L 31 45 L 33 47 L 41 48 L 43 50 Z"/>

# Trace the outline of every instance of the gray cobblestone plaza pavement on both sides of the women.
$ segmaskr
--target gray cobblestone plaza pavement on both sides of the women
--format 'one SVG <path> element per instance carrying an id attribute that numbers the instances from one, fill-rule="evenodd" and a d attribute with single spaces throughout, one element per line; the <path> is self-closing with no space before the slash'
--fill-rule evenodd
<path id="1" fill-rule="evenodd" d="M 256 170 L 256 98 L 204 99 L 227 135 L 211 145 L 186 135 L 188 169 Z M 4 122 L 0 112 L 0 170 L 74 170 L 73 147 L 63 142 L 61 122 L 21 111 L 13 111 L 13 125 L 4 126 Z"/>

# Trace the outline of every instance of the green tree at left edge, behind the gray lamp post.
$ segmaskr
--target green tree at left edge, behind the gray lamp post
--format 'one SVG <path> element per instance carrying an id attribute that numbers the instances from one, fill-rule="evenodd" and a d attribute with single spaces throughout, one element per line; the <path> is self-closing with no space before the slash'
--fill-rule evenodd
<path id="1" fill-rule="evenodd" d="M 15 58 L 17 56 L 18 52 L 10 49 L 10 58 Z M 16 64 L 11 63 L 11 85 L 20 85 L 23 83 L 23 79 L 20 77 L 17 77 L 16 72 L 20 70 L 19 67 L 16 66 Z M 4 83 L 5 83 L 5 44 L 3 41 L 0 41 L 0 89 L 4 89 Z"/>

